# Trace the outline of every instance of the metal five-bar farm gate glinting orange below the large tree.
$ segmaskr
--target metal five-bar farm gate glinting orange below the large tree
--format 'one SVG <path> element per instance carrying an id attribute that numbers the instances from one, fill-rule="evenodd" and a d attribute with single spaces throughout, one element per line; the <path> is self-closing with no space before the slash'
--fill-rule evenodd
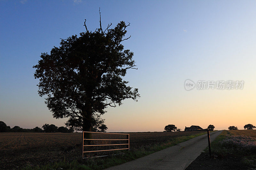
<path id="1" fill-rule="evenodd" d="M 92 138 L 86 139 L 84 137 L 84 133 L 92 133 Z M 88 143 L 87 141 L 90 141 L 90 142 Z M 119 148 L 116 148 L 118 146 Z M 84 147 L 89 147 L 89 149 L 85 150 Z M 100 150 L 98 150 L 99 147 L 101 148 Z M 110 147 L 115 147 L 115 148 L 110 148 Z M 88 156 L 84 157 L 84 154 L 86 153 L 97 152 L 97 155 L 92 156 L 95 158 L 95 157 L 108 156 L 110 154 L 110 151 L 126 150 L 126 149 L 130 149 L 129 134 L 83 131 L 83 159 L 88 158 Z M 107 151 L 109 151 L 108 155 L 98 156 L 98 152 L 107 152 Z"/>

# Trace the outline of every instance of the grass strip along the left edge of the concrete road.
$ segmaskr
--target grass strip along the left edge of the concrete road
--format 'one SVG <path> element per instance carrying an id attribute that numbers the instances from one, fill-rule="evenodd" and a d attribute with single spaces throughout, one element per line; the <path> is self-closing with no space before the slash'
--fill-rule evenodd
<path id="1" fill-rule="evenodd" d="M 213 132 L 213 131 L 211 131 L 211 132 Z M 114 154 L 120 153 L 120 152 L 115 152 L 108 157 L 89 158 L 87 160 L 84 160 L 83 162 L 78 162 L 78 161 L 68 162 L 64 159 L 63 161 L 48 163 L 47 165 L 44 165 L 44 166 L 26 166 L 25 168 L 23 168 L 23 170 L 28 170 L 28 169 L 35 169 L 35 170 L 37 170 L 37 169 L 43 169 L 43 170 L 48 170 L 48 169 L 91 170 L 91 169 L 95 169 L 95 170 L 101 170 L 101 169 L 105 169 L 105 168 L 108 168 L 111 166 L 120 165 L 122 163 L 141 158 L 143 156 L 146 156 L 151 153 L 174 146 L 181 142 L 185 142 L 189 139 L 204 135 L 206 133 L 207 132 L 202 132 L 202 133 L 198 133 L 198 134 L 190 135 L 190 136 L 173 137 L 168 142 L 165 142 L 162 144 L 155 144 L 153 146 L 143 147 L 143 148 L 140 148 L 135 151 L 125 151 L 125 152 L 121 152 L 121 154 L 118 154 L 118 155 L 114 155 Z"/>

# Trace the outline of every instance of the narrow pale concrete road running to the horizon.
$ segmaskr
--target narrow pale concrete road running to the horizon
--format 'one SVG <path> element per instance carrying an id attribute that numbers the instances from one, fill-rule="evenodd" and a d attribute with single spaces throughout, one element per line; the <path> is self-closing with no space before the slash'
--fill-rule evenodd
<path id="1" fill-rule="evenodd" d="M 220 135 L 222 130 L 210 133 L 210 139 Z M 142 158 L 112 166 L 107 170 L 134 170 L 134 169 L 171 169 L 183 170 L 195 160 L 208 146 L 207 134 L 189 139 L 162 151 L 152 153 Z"/>

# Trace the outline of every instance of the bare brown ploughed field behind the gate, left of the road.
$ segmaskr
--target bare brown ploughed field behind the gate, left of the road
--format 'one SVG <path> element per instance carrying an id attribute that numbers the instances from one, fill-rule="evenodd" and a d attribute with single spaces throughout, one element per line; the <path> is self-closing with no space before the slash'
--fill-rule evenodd
<path id="1" fill-rule="evenodd" d="M 130 149 L 150 147 L 173 137 L 197 133 L 200 131 L 130 133 Z M 82 133 L 0 133 L 0 169 L 44 165 L 64 159 L 81 162 L 82 142 Z"/>

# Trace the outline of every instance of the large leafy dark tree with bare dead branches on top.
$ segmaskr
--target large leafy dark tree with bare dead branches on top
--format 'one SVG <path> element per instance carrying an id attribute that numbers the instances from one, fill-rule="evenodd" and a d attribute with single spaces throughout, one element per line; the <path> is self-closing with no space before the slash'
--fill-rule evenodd
<path id="1" fill-rule="evenodd" d="M 67 126 L 91 131 L 103 121 L 100 116 L 108 106 L 120 106 L 129 98 L 137 101 L 140 95 L 123 80 L 127 70 L 137 69 L 133 52 L 122 45 L 131 37 L 124 37 L 130 23 L 121 21 L 103 30 L 100 19 L 100 28 L 92 32 L 85 21 L 86 32 L 62 39 L 60 47 L 42 53 L 33 68 L 39 96 L 47 96 L 45 103 L 53 117 L 68 117 Z"/>

